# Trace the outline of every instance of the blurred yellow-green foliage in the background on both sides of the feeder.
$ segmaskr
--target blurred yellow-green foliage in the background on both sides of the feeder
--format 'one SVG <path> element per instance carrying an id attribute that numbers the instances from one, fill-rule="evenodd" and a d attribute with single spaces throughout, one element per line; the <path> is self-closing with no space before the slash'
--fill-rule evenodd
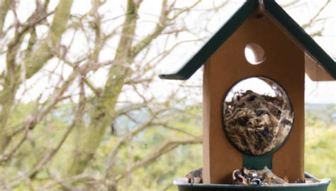
<path id="1" fill-rule="evenodd" d="M 311 106 L 311 105 L 310 105 Z M 10 124 L 15 126 L 21 121 L 25 115 L 33 108 L 31 104 L 21 105 L 16 108 L 16 115 L 11 115 Z M 1 178 L 15 178 L 28 168 L 31 168 L 39 158 L 43 157 L 45 152 L 50 149 L 55 141 L 62 137 L 67 121 L 72 117 L 71 105 L 60 105 L 41 123 L 37 129 L 30 135 L 31 141 L 27 141 L 20 149 L 20 152 L 14 156 L 15 158 L 24 158 L 20 163 L 6 163 L 3 168 L 0 168 Z M 196 117 L 191 118 L 190 115 L 181 115 L 174 120 L 174 127 L 184 129 L 187 132 L 192 132 L 196 136 L 201 135 L 201 109 L 189 108 L 186 112 L 198 113 Z M 306 171 L 315 175 L 318 178 L 330 178 L 332 185 L 329 190 L 335 190 L 336 186 L 336 124 L 332 120 L 332 113 L 336 113 L 334 105 L 325 105 L 322 108 L 316 106 L 313 109 L 306 110 Z M 145 111 L 137 113 L 138 118 L 146 118 Z M 319 117 L 323 116 L 323 117 Z M 320 120 L 323 119 L 323 120 Z M 116 128 L 118 132 L 128 131 L 130 128 L 125 128 L 131 123 L 124 117 L 116 120 Z M 53 127 L 57 126 L 57 130 Z M 63 127 L 63 128 L 62 128 Z M 64 129 L 64 130 L 62 130 Z M 151 151 L 157 148 L 167 137 L 183 137 L 181 132 L 174 132 L 163 127 L 151 127 L 145 132 L 138 134 L 134 139 L 128 141 L 120 151 L 116 166 L 113 168 L 113 173 L 123 173 L 129 166 L 132 166 L 140 158 L 147 156 Z M 101 146 L 94 156 L 86 173 L 94 175 L 96 178 L 101 178 L 102 172 L 106 170 L 106 156 L 111 147 L 116 144 L 115 135 L 106 132 Z M 33 183 L 21 182 L 14 190 L 30 190 L 31 186 L 39 187 L 50 183 L 50 175 L 60 175 L 65 163 L 68 162 L 68 152 L 72 151 L 72 146 L 76 146 L 76 137 L 71 137 L 62 146 L 59 153 L 52 159 L 52 163 L 41 170 L 36 175 Z M 190 170 L 202 166 L 202 146 L 201 144 L 192 144 L 186 146 L 178 146 L 177 149 L 170 151 L 167 154 L 157 158 L 155 163 L 139 168 L 127 178 L 124 178 L 118 183 L 118 190 L 177 190 L 177 187 L 172 185 L 174 178 L 183 177 Z M 83 183 L 83 187 L 86 183 Z M 58 188 L 57 188 L 58 187 Z M 55 185 L 50 190 L 61 189 L 59 185 Z"/>

